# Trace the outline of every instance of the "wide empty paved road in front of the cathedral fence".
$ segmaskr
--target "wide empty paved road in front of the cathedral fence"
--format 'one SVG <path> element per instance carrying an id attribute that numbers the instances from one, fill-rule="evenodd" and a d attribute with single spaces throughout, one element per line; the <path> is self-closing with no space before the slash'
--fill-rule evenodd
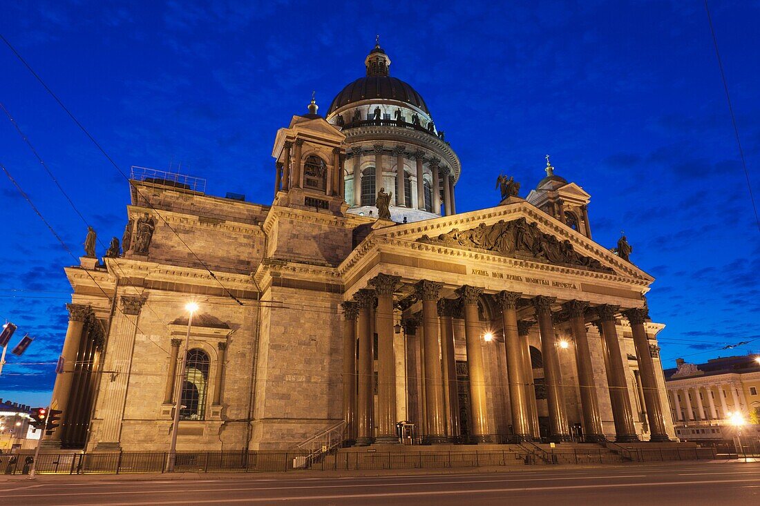
<path id="1" fill-rule="evenodd" d="M 289 504 L 404 506 L 462 504 L 760 504 L 760 463 L 684 463 L 507 473 L 325 477 L 202 475 L 198 479 L 41 476 L 0 484 L 0 504 Z"/>

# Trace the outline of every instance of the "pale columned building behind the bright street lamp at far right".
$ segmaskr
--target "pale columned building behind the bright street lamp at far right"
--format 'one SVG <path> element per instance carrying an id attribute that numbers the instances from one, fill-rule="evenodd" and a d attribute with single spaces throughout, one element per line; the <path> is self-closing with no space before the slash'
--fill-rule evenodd
<path id="1" fill-rule="evenodd" d="M 689 364 L 677 359 L 664 371 L 676 435 L 684 440 L 732 440 L 733 413 L 747 422 L 746 436 L 760 438 L 760 362 L 755 355 Z"/>

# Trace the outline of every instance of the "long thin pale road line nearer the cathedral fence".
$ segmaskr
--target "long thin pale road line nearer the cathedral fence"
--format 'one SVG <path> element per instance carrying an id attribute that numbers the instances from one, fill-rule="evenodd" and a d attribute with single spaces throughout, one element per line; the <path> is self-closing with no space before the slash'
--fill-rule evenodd
<path id="1" fill-rule="evenodd" d="M 643 474 L 632 474 L 628 476 L 615 476 L 616 478 L 644 478 Z M 351 485 L 306 485 L 306 486 L 289 486 L 289 487 L 242 487 L 238 489 L 196 489 L 196 493 L 201 492 L 245 492 L 250 490 L 296 490 L 296 489 L 347 489 L 356 487 L 397 487 L 397 486 L 416 486 L 416 485 L 461 485 L 461 484 L 477 484 L 477 483 L 503 483 L 503 482 L 543 482 L 543 481 L 558 481 L 561 479 L 599 479 L 599 476 L 571 476 L 565 478 L 523 478 L 523 479 L 479 479 L 479 480 L 463 480 L 458 482 L 409 482 L 409 483 L 354 483 Z M 760 479 L 760 478 L 758 478 Z M 176 482 L 177 485 L 183 485 L 183 489 L 187 488 L 187 483 L 181 481 Z M 166 490 L 166 487 L 161 487 L 158 490 L 130 490 L 130 491 L 109 491 L 109 492 L 36 492 L 34 494 L 5 494 L 3 497 L 42 497 L 45 495 L 133 495 L 133 494 L 155 494 Z M 176 491 L 173 491 L 176 492 Z"/>

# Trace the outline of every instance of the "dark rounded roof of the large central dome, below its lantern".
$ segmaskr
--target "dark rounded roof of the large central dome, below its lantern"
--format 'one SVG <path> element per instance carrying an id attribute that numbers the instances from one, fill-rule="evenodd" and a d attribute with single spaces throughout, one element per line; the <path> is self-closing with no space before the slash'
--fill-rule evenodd
<path id="1" fill-rule="evenodd" d="M 400 100 L 430 114 L 423 97 L 409 84 L 389 75 L 368 75 L 344 87 L 330 104 L 328 115 L 347 104 L 372 99 Z"/>

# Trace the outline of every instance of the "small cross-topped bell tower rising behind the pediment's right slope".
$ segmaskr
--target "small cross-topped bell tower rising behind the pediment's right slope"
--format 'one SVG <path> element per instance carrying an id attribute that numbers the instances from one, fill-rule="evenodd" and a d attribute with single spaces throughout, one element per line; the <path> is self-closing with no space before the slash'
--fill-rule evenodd
<path id="1" fill-rule="evenodd" d="M 588 223 L 588 203 L 591 195 L 574 182 L 554 173 L 554 167 L 546 155 L 546 177 L 531 190 L 527 200 L 549 216 L 565 223 L 570 228 L 591 239 L 591 225 Z"/>

